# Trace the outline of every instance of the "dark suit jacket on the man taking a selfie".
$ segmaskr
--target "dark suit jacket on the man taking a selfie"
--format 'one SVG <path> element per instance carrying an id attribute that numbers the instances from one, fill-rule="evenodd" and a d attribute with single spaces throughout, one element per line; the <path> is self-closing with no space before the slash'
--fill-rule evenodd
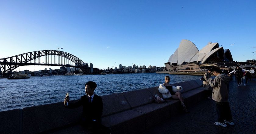
<path id="1" fill-rule="evenodd" d="M 101 97 L 94 94 L 92 103 L 89 103 L 88 95 L 84 95 L 75 103 L 69 103 L 69 105 L 65 106 L 65 108 L 78 108 L 80 106 L 83 106 L 83 119 L 85 119 L 88 122 L 91 122 L 92 120 L 101 122 L 101 115 L 103 109 Z"/>

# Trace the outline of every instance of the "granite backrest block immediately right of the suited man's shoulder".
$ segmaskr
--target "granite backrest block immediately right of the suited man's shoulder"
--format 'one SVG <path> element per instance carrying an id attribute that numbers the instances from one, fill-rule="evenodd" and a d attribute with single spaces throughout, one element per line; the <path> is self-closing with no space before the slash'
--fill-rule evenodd
<path id="1" fill-rule="evenodd" d="M 130 109 L 130 105 L 122 93 L 101 96 L 103 101 L 102 117 Z"/>

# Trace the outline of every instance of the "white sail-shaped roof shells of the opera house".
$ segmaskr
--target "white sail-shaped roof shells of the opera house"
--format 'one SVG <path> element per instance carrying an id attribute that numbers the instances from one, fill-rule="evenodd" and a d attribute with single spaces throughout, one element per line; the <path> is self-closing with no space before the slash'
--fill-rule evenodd
<path id="1" fill-rule="evenodd" d="M 181 40 L 179 48 L 170 56 L 168 62 L 171 65 L 181 65 L 184 63 L 203 64 L 205 62 L 233 61 L 229 49 L 219 48 L 219 43 L 208 42 L 208 44 L 198 51 L 196 45 L 189 40 Z"/>

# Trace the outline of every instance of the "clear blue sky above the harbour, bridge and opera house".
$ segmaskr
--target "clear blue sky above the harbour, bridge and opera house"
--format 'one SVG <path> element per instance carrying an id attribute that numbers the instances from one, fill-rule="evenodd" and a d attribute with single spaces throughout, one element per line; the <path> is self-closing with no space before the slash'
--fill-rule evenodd
<path id="1" fill-rule="evenodd" d="M 0 0 L 0 58 L 63 48 L 99 69 L 162 67 L 187 39 L 199 51 L 218 42 L 234 61 L 256 59 L 255 7 L 255 0 Z"/>

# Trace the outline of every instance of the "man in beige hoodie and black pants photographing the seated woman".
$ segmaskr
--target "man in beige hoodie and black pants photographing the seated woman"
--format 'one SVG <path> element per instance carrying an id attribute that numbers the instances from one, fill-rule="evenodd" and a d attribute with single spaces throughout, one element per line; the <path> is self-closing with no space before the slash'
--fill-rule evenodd
<path id="1" fill-rule="evenodd" d="M 226 123 L 234 125 L 228 102 L 228 83 L 230 78 L 225 74 L 221 74 L 220 69 L 212 69 L 212 74 L 216 77 L 214 80 L 209 78 L 209 83 L 213 87 L 212 100 L 215 101 L 216 111 L 218 114 L 218 122 L 215 122 L 214 124 L 221 125 L 223 127 L 227 126 Z"/>

